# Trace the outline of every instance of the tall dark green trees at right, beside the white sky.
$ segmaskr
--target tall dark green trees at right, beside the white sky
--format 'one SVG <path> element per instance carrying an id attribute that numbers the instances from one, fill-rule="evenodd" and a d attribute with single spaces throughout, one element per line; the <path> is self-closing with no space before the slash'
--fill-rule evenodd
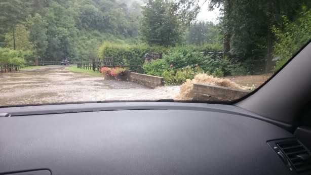
<path id="1" fill-rule="evenodd" d="M 292 21 L 298 15 L 302 5 L 311 7 L 310 1 L 260 0 L 260 1 L 229 1 L 211 0 L 210 9 L 220 7 L 221 32 L 224 35 L 225 53 L 229 51 L 230 58 L 235 57 L 247 64 L 248 71 L 256 67 L 266 67 L 271 62 L 273 44 L 276 37 L 270 28 L 281 27 L 282 16 L 286 15 Z M 264 62 L 266 66 L 261 64 Z M 258 66 L 252 66 L 260 63 Z M 269 67 L 267 67 L 269 69 Z M 261 73 L 269 71 L 261 68 Z"/>

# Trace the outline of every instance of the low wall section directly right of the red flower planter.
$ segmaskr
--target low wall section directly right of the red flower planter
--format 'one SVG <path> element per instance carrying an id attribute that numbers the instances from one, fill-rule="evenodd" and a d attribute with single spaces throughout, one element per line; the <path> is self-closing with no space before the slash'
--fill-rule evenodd
<path id="1" fill-rule="evenodd" d="M 146 75 L 146 74 L 141 74 L 141 73 L 133 73 L 133 72 L 131 72 L 131 81 L 142 84 L 146 87 L 150 87 L 151 89 L 164 85 L 163 77 Z"/>

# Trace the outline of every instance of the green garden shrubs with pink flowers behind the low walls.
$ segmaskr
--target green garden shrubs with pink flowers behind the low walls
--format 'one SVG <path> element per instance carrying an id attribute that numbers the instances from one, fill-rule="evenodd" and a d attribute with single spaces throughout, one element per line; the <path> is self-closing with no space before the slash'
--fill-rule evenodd
<path id="1" fill-rule="evenodd" d="M 181 84 L 199 73 L 218 77 L 230 75 L 231 71 L 247 74 L 241 64 L 233 64 L 226 58 L 212 59 L 198 51 L 195 52 L 198 49 L 195 48 L 193 46 L 172 48 L 162 59 L 144 63 L 143 70 L 149 75 L 163 76 L 166 84 Z"/>

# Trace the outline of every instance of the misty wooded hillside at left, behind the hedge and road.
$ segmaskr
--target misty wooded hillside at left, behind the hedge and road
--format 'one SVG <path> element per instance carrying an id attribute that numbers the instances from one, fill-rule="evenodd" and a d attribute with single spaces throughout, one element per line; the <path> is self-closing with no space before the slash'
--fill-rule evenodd
<path id="1" fill-rule="evenodd" d="M 6 46 L 5 35 L 13 35 L 13 27 L 23 25 L 30 32 L 24 36 L 28 35 L 34 46 L 31 57 L 40 61 L 65 58 L 86 61 L 96 56 L 104 40 L 138 41 L 141 9 L 137 2 L 3 0 L 0 2 L 0 47 Z"/>

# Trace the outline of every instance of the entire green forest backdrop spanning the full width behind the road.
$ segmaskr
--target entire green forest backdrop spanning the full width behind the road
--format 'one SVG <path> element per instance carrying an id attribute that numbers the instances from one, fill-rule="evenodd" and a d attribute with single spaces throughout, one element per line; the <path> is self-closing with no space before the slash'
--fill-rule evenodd
<path id="1" fill-rule="evenodd" d="M 196 21 L 202 3 L 220 9 L 218 24 Z M 269 73 L 310 40 L 310 7 L 303 0 L 1 0 L 0 64 L 111 54 L 120 64 L 143 64 L 147 52 L 168 53 L 177 64 L 189 53 L 222 52 L 222 75 Z M 125 51 L 135 58 L 122 57 Z M 170 65 L 160 63 L 144 65 L 144 72 Z"/>

